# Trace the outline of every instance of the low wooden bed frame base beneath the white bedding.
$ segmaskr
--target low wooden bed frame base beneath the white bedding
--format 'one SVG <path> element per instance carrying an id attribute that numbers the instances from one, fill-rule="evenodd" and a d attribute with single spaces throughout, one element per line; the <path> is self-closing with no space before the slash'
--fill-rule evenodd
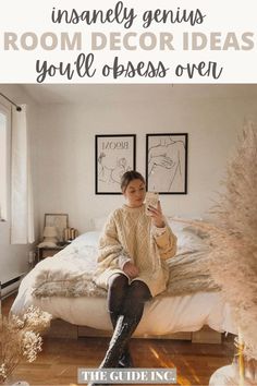
<path id="1" fill-rule="evenodd" d="M 77 326 L 62 319 L 53 319 L 47 335 L 52 338 L 78 339 L 85 337 L 110 337 L 111 333 L 86 326 Z M 199 331 L 175 333 L 169 335 L 140 335 L 134 338 L 147 339 L 180 339 L 189 340 L 193 343 L 221 343 L 222 334 L 217 333 L 208 326 L 204 326 Z"/>

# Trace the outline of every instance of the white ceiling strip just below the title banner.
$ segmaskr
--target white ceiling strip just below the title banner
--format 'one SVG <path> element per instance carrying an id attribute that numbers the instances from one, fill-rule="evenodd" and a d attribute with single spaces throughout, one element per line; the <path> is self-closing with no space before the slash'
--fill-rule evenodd
<path id="1" fill-rule="evenodd" d="M 163 98 L 257 98 L 255 84 L 204 85 L 123 85 L 123 84 L 23 84 L 21 87 L 40 105 L 46 104 L 112 104 Z"/>

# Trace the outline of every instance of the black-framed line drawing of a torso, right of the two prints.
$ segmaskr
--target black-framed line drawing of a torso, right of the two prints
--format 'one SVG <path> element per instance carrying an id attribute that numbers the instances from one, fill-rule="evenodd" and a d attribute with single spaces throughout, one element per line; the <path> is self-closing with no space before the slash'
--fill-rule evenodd
<path id="1" fill-rule="evenodd" d="M 146 134 L 146 189 L 187 194 L 187 133 Z"/>

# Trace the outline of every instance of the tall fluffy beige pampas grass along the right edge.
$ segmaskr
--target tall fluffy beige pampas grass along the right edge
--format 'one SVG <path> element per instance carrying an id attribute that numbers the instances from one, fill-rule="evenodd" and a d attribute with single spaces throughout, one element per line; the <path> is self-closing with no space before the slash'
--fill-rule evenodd
<path id="1" fill-rule="evenodd" d="M 257 129 L 248 122 L 228 164 L 225 190 L 212 208 L 215 226 L 194 221 L 209 234 L 209 269 L 231 305 L 244 354 L 257 360 Z"/>

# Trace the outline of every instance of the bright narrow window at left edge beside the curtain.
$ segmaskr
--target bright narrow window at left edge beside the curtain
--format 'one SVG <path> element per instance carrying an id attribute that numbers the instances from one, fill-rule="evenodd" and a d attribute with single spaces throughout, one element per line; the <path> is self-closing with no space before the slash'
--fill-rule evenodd
<path id="1" fill-rule="evenodd" d="M 8 219 L 10 185 L 10 110 L 0 104 L 0 220 Z"/>

